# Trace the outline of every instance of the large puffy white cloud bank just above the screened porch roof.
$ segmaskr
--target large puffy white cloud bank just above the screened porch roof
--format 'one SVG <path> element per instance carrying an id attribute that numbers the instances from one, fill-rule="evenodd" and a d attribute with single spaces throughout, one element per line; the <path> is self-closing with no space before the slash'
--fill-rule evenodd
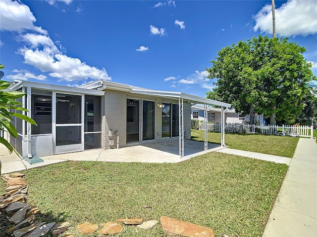
<path id="1" fill-rule="evenodd" d="M 24 57 L 24 63 L 32 65 L 42 72 L 48 72 L 59 81 L 74 81 L 84 79 L 111 80 L 106 69 L 91 67 L 78 58 L 64 55 L 58 50 L 49 36 L 26 34 L 22 37 L 29 44 L 19 49 Z"/>

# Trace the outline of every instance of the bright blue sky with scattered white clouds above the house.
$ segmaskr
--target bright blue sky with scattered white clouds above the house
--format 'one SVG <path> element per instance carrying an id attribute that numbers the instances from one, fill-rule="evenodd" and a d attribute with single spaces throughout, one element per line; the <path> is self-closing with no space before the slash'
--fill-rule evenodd
<path id="1" fill-rule="evenodd" d="M 5 80 L 98 79 L 206 97 L 206 68 L 239 40 L 272 37 L 270 0 L 0 0 Z M 305 46 L 317 75 L 317 1 L 275 0 L 279 37 Z"/>

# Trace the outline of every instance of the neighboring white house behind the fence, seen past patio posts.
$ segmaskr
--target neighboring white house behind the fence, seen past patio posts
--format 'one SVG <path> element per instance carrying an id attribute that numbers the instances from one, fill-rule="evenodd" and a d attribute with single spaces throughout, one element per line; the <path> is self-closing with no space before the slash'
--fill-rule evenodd
<path id="1" fill-rule="evenodd" d="M 204 120 L 204 106 L 192 105 L 191 119 Z M 213 123 L 221 123 L 221 109 L 207 107 L 208 121 Z M 242 123 L 244 121 L 250 121 L 250 115 L 243 116 L 238 114 L 233 109 L 226 109 L 224 111 L 224 120 L 226 123 Z M 256 116 L 256 121 L 263 121 L 263 116 Z"/>

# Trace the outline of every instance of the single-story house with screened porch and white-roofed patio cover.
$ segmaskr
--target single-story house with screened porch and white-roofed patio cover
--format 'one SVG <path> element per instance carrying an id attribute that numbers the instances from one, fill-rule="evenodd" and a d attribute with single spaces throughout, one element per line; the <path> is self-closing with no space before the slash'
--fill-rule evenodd
<path id="1" fill-rule="evenodd" d="M 44 157 L 96 148 L 119 148 L 162 139 L 191 137 L 191 104 L 230 108 L 230 104 L 182 92 L 158 91 L 106 80 L 79 87 L 19 81 L 10 91 L 23 91 L 25 115 L 37 126 L 13 121 L 18 138 L 10 144 L 22 156 Z M 206 111 L 207 113 L 207 111 Z M 207 133 L 207 132 L 205 132 Z M 177 139 L 177 138 L 176 138 Z M 224 128 L 223 140 L 224 146 Z M 205 141 L 205 150 L 207 141 Z"/>

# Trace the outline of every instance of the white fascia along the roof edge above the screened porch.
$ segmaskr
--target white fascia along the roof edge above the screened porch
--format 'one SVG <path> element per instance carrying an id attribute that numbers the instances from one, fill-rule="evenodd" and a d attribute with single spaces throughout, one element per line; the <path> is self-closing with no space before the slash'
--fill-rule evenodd
<path id="1" fill-rule="evenodd" d="M 20 81 L 14 86 L 12 86 L 10 88 L 10 91 L 17 90 L 22 86 L 37 88 L 37 89 L 44 89 L 44 90 L 53 90 L 53 91 L 59 91 L 59 92 L 69 92 L 69 93 L 75 92 L 75 93 L 99 95 L 99 96 L 105 95 L 105 91 L 100 91 L 100 90 L 70 87 L 70 86 L 64 86 L 64 85 L 53 85 L 53 84 L 46 84 L 46 83 L 32 82 L 32 81 Z"/>

